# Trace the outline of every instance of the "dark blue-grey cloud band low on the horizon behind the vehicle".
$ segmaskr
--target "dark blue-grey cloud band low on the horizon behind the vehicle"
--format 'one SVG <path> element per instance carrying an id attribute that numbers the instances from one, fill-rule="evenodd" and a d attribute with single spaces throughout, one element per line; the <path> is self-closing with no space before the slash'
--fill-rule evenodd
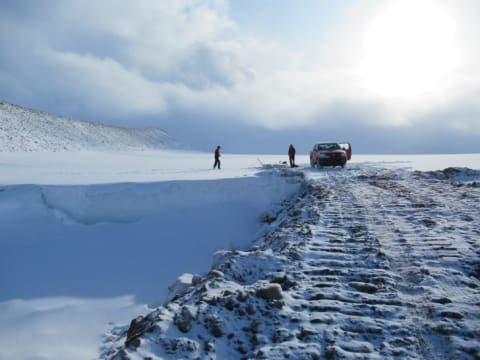
<path id="1" fill-rule="evenodd" d="M 343 109 L 340 111 L 339 109 Z M 428 119 L 415 126 L 378 126 L 368 123 L 374 109 L 363 112 L 343 104 L 317 114 L 316 126 L 298 125 L 267 129 L 246 125 L 241 114 L 228 119 L 201 118 L 199 114 L 178 111 L 172 117 L 149 119 L 194 148 L 211 151 L 221 144 L 229 153 L 286 153 L 295 144 L 299 154 L 308 154 L 318 141 L 348 141 L 357 154 L 435 154 L 478 153 L 478 135 L 447 126 L 449 118 Z M 456 114 L 452 112 L 452 115 Z M 441 123 L 443 122 L 443 123 Z"/>

